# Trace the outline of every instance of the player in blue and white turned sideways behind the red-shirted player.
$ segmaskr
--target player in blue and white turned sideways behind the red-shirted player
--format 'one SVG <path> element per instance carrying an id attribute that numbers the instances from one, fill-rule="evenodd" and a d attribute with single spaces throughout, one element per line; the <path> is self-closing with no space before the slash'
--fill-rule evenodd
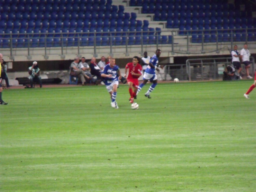
<path id="1" fill-rule="evenodd" d="M 148 80 L 150 82 L 152 82 L 153 84 L 149 87 L 148 91 L 145 94 L 145 97 L 148 97 L 148 99 L 150 99 L 150 93 L 155 89 L 156 85 L 157 85 L 157 75 L 156 75 L 156 71 L 158 72 L 160 71 L 159 68 L 164 68 L 164 66 L 162 65 L 158 65 L 158 58 L 161 55 L 161 50 L 157 49 L 156 50 L 156 54 L 150 59 L 149 63 L 148 63 L 148 68 L 145 70 L 145 73 L 143 75 L 143 83 L 141 83 L 138 87 L 138 91 L 137 94 L 140 92 L 141 88 L 148 82 Z"/>

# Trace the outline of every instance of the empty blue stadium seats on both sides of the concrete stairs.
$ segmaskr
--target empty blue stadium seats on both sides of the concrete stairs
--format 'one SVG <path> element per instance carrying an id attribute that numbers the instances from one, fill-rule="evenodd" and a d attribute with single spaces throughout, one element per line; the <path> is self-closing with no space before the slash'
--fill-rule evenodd
<path id="1" fill-rule="evenodd" d="M 251 14 L 239 11 L 227 0 L 130 0 L 130 6 L 154 13 L 155 20 L 167 20 L 167 28 L 179 28 L 179 35 L 192 35 L 195 43 L 256 39 Z M 114 5 L 112 0 L 15 1 L 0 9 L 2 47 L 11 43 L 12 47 L 76 46 L 77 32 L 84 46 L 172 42 L 172 36 L 161 35 L 161 28 L 151 28 L 148 20 L 138 20 L 136 13 L 125 12 L 123 5 Z M 24 35 L 29 33 L 35 35 Z"/>

